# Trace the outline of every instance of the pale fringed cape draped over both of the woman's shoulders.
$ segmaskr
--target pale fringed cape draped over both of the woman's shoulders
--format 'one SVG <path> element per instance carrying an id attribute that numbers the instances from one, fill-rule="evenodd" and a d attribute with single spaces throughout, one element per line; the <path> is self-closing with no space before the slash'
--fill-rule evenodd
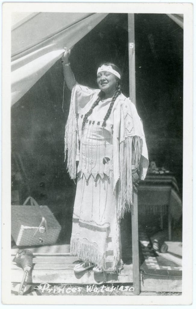
<path id="1" fill-rule="evenodd" d="M 99 89 L 91 89 L 76 84 L 72 90 L 71 104 L 65 128 L 65 155 L 71 179 L 76 178 L 76 160 L 79 142 L 77 115 L 80 108 L 89 104 L 89 109 L 97 99 Z M 135 105 L 120 94 L 112 108 L 113 125 L 113 190 L 116 194 L 117 218 L 123 218 L 133 206 L 132 201 L 132 156 L 139 170 L 141 180 L 148 169 L 148 151 L 142 121 Z"/>

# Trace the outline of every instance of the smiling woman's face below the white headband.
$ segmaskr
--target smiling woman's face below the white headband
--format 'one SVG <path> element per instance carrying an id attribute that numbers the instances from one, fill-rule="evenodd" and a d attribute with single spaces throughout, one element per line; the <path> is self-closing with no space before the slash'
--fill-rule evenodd
<path id="1" fill-rule="evenodd" d="M 116 82 L 116 76 L 108 71 L 102 71 L 97 75 L 98 86 L 105 93 L 113 94 L 116 90 Z"/>

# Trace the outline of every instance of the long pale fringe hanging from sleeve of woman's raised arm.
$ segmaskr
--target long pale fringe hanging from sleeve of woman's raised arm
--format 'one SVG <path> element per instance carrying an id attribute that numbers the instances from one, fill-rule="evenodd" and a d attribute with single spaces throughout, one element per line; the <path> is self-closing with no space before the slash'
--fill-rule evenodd
<path id="1" fill-rule="evenodd" d="M 76 114 L 71 104 L 69 116 L 65 127 L 65 159 L 67 157 L 67 170 L 70 178 L 76 178 L 76 138 L 77 138 L 77 120 Z"/>

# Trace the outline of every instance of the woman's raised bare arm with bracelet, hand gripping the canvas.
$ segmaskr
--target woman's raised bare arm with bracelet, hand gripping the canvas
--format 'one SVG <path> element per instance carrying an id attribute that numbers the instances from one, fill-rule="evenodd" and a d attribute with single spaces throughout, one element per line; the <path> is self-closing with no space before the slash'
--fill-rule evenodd
<path id="1" fill-rule="evenodd" d="M 67 87 L 69 88 L 69 90 L 72 90 L 72 88 L 76 84 L 76 80 L 71 70 L 71 66 L 69 62 L 69 56 L 70 56 L 71 49 L 67 49 L 67 47 L 64 47 L 64 49 L 65 49 L 65 52 L 61 60 L 62 65 L 63 65 L 63 74 L 64 74 L 64 79 L 65 79 L 65 83 L 67 84 Z"/>

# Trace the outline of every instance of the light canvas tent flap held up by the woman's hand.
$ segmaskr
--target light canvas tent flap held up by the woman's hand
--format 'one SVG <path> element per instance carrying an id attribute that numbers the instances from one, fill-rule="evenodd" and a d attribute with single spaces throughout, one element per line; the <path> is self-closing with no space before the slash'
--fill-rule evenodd
<path id="1" fill-rule="evenodd" d="M 63 56 L 64 46 L 71 48 L 106 15 L 107 13 L 40 13 L 14 28 L 12 105 Z"/>

